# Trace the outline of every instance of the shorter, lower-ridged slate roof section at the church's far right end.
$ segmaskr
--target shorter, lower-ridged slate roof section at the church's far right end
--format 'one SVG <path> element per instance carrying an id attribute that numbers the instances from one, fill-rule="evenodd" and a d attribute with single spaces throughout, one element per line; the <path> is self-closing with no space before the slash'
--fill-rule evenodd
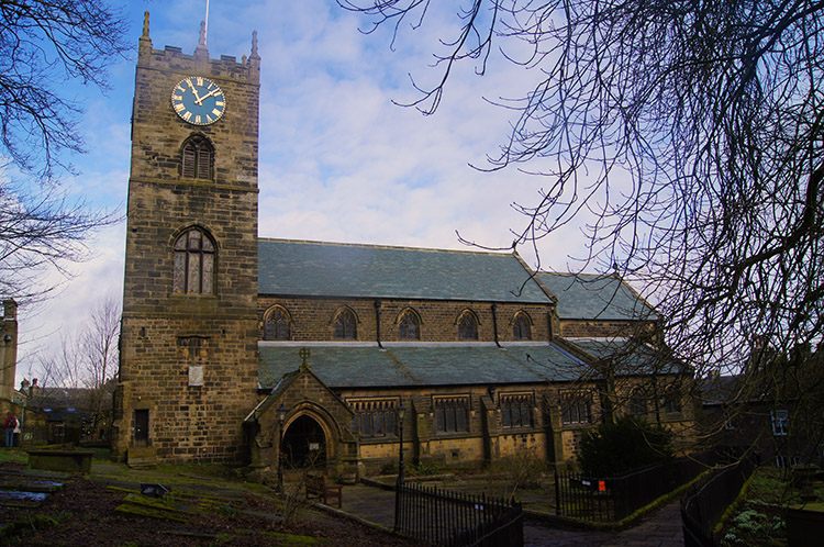
<path id="1" fill-rule="evenodd" d="M 615 277 L 542 271 L 537 278 L 558 298 L 558 316 L 563 320 L 658 319 L 644 299 Z"/>

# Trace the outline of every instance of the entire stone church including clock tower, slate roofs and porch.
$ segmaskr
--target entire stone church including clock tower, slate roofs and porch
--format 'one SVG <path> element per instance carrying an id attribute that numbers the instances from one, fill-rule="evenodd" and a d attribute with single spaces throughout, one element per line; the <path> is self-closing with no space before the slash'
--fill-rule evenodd
<path id="1" fill-rule="evenodd" d="M 686 436 L 690 367 L 615 276 L 516 253 L 258 237 L 252 51 L 140 38 L 112 446 L 130 465 L 230 461 L 331 475 L 575 460 L 639 415 Z M 652 397 L 650 397 L 652 394 Z M 643 397 L 642 397 L 643 395 Z"/>

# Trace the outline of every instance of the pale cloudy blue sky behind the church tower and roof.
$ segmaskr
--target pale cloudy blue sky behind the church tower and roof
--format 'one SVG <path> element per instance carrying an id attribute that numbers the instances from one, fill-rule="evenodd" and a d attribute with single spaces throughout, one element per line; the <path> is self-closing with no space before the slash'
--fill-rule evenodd
<path id="1" fill-rule="evenodd" d="M 452 2 L 449 2 L 452 4 Z M 438 9 L 442 7 L 438 3 Z M 80 124 L 88 153 L 66 189 L 93 208 L 125 212 L 130 115 L 137 38 L 148 10 L 156 49 L 191 54 L 205 0 L 132 1 L 124 9 L 134 49 L 110 70 L 110 90 L 77 89 L 86 109 Z M 449 8 L 455 10 L 457 8 Z M 212 58 L 248 55 L 258 32 L 261 57 L 259 236 L 413 247 L 469 249 L 456 235 L 485 247 L 509 247 L 525 219 L 511 204 L 537 203 L 547 181 L 508 168 L 483 172 L 508 137 L 512 112 L 491 104 L 523 96 L 541 77 L 494 52 L 487 74 L 476 65 L 453 74 L 438 111 L 425 116 L 409 102 L 439 77 L 433 52 L 456 30 L 454 11 L 433 9 L 426 24 L 404 24 L 394 47 L 391 27 L 374 34 L 364 16 L 333 0 L 211 0 L 208 47 Z M 510 54 L 517 53 L 508 52 Z M 73 91 L 76 88 L 71 88 Z M 541 267 L 567 271 L 584 252 L 575 226 L 541 243 Z M 18 384 L 37 376 L 38 359 L 62 336 L 88 322 L 96 302 L 122 297 L 125 222 L 101 230 L 90 260 L 51 300 L 21 308 Z M 531 266 L 536 257 L 519 249 Z"/>

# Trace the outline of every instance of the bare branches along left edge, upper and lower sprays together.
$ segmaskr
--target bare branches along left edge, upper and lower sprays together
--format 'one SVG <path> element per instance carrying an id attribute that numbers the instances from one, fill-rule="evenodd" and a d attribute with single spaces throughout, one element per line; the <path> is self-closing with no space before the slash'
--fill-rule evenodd
<path id="1" fill-rule="evenodd" d="M 85 258 L 81 243 L 116 220 L 66 201 L 62 175 L 83 152 L 82 113 L 67 83 L 105 88 L 105 68 L 127 49 L 125 21 L 94 0 L 0 2 L 0 291 L 47 293 L 46 269 Z M 68 155 L 66 154 L 68 153 Z"/>

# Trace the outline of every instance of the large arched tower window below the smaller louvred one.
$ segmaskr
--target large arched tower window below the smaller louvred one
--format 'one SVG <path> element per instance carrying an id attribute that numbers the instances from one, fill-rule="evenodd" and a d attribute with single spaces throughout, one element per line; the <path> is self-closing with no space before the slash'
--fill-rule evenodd
<path id="1" fill-rule="evenodd" d="M 191 227 L 175 239 L 176 294 L 214 294 L 216 252 L 211 236 Z"/>

